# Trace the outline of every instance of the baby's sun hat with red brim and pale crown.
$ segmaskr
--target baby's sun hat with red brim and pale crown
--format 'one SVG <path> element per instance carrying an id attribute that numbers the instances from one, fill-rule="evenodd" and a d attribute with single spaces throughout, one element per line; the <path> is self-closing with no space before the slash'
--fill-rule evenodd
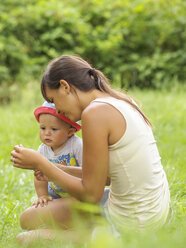
<path id="1" fill-rule="evenodd" d="M 67 118 L 66 116 L 64 116 L 63 114 L 57 114 L 56 113 L 56 108 L 55 108 L 55 104 L 54 103 L 50 103 L 45 101 L 43 103 L 42 106 L 36 108 L 34 110 L 34 115 L 36 117 L 36 120 L 39 122 L 39 115 L 40 114 L 51 114 L 54 115 L 56 117 L 58 117 L 59 119 L 65 121 L 66 123 L 70 124 L 71 126 L 76 128 L 76 132 L 78 132 L 79 130 L 81 130 L 81 125 L 79 125 L 76 122 L 72 122 L 69 118 Z"/>

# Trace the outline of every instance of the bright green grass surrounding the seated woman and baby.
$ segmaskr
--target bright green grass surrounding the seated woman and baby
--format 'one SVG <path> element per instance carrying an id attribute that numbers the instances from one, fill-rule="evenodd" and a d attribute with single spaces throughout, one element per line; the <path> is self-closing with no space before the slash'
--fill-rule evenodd
<path id="1" fill-rule="evenodd" d="M 167 173 L 174 211 L 172 222 L 158 232 L 125 233 L 116 239 L 105 231 L 88 243 L 91 248 L 173 248 L 185 246 L 186 233 L 186 92 L 184 87 L 169 91 L 132 90 L 130 92 L 153 123 L 162 163 Z M 19 247 L 15 242 L 21 232 L 19 216 L 36 196 L 33 173 L 15 169 L 10 152 L 15 144 L 37 149 L 40 144 L 38 124 L 33 110 L 43 100 L 36 83 L 14 97 L 10 105 L 0 107 L 0 248 Z M 140 99 L 140 101 L 138 100 Z M 82 237 L 83 237 L 82 233 Z M 81 247 L 71 243 L 49 242 L 35 247 Z M 83 247 L 83 246 L 82 246 Z"/>

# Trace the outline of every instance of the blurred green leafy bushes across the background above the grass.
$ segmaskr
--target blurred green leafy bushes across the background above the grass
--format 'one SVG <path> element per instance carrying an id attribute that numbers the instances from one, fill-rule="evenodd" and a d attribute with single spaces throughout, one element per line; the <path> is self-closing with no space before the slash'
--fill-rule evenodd
<path id="1" fill-rule="evenodd" d="M 185 16 L 184 0 L 1 1 L 0 85 L 66 53 L 122 87 L 170 87 L 186 76 Z"/>

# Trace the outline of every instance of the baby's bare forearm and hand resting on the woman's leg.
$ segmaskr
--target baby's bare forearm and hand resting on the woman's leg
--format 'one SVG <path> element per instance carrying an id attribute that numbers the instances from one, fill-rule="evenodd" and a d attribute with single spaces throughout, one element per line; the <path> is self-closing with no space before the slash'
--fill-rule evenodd
<path id="1" fill-rule="evenodd" d="M 48 201 L 52 201 L 52 197 L 48 196 L 48 182 L 47 181 L 39 181 L 36 177 L 34 177 L 34 186 L 36 189 L 36 193 L 38 199 L 36 202 L 32 204 L 36 208 L 40 205 L 44 207 L 48 204 Z"/>

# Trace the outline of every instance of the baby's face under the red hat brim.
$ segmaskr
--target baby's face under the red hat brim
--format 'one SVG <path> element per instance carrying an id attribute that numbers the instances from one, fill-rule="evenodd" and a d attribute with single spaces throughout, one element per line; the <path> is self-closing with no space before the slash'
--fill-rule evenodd
<path id="1" fill-rule="evenodd" d="M 70 125 L 53 115 L 41 114 L 39 126 L 41 141 L 54 152 L 60 151 L 69 138 Z"/>

